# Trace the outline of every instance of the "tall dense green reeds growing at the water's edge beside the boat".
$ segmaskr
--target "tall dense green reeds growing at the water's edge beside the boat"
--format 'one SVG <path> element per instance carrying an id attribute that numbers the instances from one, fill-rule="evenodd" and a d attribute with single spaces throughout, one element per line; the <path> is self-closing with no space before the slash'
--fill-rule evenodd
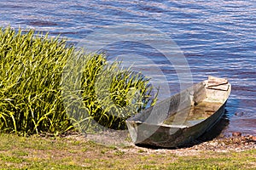
<path id="1" fill-rule="evenodd" d="M 0 29 L 2 132 L 58 134 L 90 128 L 92 120 L 125 128 L 127 117 L 154 105 L 152 89 L 148 78 L 108 64 L 104 54 L 84 54 L 34 31 Z"/>

